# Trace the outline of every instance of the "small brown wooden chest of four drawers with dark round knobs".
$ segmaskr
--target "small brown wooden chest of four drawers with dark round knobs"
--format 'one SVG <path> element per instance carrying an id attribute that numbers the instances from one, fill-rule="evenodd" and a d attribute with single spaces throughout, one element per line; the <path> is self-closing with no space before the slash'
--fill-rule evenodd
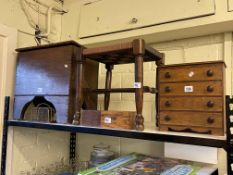
<path id="1" fill-rule="evenodd" d="M 158 120 L 163 131 L 224 134 L 221 61 L 158 68 Z"/>

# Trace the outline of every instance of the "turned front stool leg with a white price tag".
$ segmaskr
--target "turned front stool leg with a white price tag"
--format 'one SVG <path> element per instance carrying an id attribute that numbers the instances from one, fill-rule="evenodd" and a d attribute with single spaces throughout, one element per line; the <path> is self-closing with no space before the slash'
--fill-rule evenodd
<path id="1" fill-rule="evenodd" d="M 136 130 L 144 130 L 144 118 L 142 116 L 143 107 L 143 56 L 137 55 L 135 57 L 135 83 L 138 83 L 139 87 L 135 89 L 135 101 L 136 101 Z"/>

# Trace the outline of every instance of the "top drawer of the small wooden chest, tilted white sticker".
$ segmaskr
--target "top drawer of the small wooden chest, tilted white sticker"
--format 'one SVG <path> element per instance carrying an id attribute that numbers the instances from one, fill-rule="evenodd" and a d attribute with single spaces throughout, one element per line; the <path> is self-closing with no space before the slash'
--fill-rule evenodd
<path id="1" fill-rule="evenodd" d="M 211 81 L 223 79 L 224 63 L 166 66 L 159 68 L 160 82 Z"/>

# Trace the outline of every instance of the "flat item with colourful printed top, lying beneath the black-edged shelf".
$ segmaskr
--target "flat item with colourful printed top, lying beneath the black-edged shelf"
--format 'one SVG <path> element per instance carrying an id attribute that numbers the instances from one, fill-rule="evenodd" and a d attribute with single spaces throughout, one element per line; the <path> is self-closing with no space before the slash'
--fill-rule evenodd
<path id="1" fill-rule="evenodd" d="M 132 153 L 78 175 L 211 175 L 215 165 Z"/>

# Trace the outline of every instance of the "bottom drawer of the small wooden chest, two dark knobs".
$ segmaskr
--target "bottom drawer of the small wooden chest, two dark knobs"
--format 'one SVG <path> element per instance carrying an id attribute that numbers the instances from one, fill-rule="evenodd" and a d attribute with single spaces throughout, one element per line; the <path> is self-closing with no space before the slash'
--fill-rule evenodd
<path id="1" fill-rule="evenodd" d="M 161 125 L 222 128 L 222 114 L 208 112 L 161 112 Z"/>

